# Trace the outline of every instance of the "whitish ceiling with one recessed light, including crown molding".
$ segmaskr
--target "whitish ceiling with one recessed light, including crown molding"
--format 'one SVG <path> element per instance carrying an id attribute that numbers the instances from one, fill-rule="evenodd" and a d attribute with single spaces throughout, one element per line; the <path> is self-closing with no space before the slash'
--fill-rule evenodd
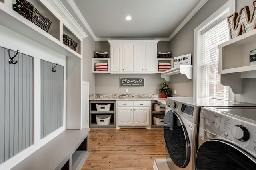
<path id="1" fill-rule="evenodd" d="M 97 40 L 170 40 L 207 0 L 73 0 L 69 4 Z M 125 16 L 132 16 L 126 21 Z"/>

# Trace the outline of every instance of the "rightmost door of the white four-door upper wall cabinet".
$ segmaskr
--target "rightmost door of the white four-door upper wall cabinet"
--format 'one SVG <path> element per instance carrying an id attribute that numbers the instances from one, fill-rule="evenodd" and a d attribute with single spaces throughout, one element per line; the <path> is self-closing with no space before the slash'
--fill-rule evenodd
<path id="1" fill-rule="evenodd" d="M 145 72 L 156 72 L 156 45 L 145 47 Z"/>

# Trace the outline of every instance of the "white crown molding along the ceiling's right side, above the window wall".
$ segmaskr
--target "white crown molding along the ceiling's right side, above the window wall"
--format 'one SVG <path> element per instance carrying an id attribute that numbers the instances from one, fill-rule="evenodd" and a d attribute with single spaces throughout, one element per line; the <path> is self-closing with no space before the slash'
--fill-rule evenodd
<path id="1" fill-rule="evenodd" d="M 200 10 L 200 8 L 202 8 L 202 6 L 204 6 L 204 4 L 207 1 L 208 0 L 201 0 L 196 5 L 196 7 L 188 14 L 188 16 L 186 16 L 186 18 L 180 23 L 180 25 L 173 31 L 173 33 L 168 38 L 169 41 L 180 31 L 180 29 L 182 29 L 182 27 L 184 27 L 184 25 L 196 14 L 196 12 L 198 12 Z"/>

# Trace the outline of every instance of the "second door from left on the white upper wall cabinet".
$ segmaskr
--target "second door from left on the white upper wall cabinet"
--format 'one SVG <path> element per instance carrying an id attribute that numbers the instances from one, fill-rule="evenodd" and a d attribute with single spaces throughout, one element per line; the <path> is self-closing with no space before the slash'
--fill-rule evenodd
<path id="1" fill-rule="evenodd" d="M 133 71 L 133 45 L 122 46 L 122 72 Z"/>

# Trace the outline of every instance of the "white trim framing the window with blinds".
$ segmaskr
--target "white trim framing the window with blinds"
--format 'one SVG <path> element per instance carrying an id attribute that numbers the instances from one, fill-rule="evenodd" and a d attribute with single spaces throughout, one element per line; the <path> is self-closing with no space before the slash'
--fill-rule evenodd
<path id="1" fill-rule="evenodd" d="M 223 14 L 229 11 L 229 14 L 233 14 L 235 11 L 235 0 L 229 0 L 226 4 L 224 4 L 221 8 L 219 8 L 214 14 L 212 14 L 209 18 L 207 18 L 204 22 L 202 22 L 198 27 L 194 29 L 194 56 L 193 56 L 193 96 L 194 97 L 202 97 L 200 94 L 200 84 L 201 84 L 201 70 L 200 70 L 200 39 L 198 39 L 198 36 L 200 35 L 200 32 L 211 25 L 214 21 L 217 21 Z M 231 92 L 229 88 L 229 100 L 234 100 L 234 94 Z"/>

